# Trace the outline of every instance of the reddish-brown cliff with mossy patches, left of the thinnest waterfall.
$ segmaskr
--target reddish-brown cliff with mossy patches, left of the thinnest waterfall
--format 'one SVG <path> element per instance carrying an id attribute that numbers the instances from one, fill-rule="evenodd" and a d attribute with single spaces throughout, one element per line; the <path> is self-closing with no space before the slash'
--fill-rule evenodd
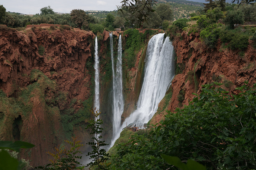
<path id="1" fill-rule="evenodd" d="M 93 93 L 95 35 L 49 27 L 16 31 L 1 26 L 0 37 L 0 140 L 36 145 L 20 156 L 32 160 L 32 166 L 46 164 L 46 152 L 60 145 L 69 131 L 82 141 L 88 138 L 81 127 L 68 123 L 73 113 L 80 113 L 74 115 L 77 119 L 90 118 L 83 109 L 90 111 L 84 101 Z M 62 126 L 61 118 L 67 127 Z"/>

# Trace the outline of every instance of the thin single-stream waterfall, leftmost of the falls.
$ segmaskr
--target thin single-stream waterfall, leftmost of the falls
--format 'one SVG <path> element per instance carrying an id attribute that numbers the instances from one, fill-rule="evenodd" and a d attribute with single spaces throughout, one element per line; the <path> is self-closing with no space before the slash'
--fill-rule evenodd
<path id="1" fill-rule="evenodd" d="M 95 95 L 94 95 L 94 108 L 100 112 L 100 82 L 99 82 L 99 56 L 98 56 L 98 40 L 97 36 L 95 38 L 95 47 L 94 47 L 94 69 L 95 69 Z"/>

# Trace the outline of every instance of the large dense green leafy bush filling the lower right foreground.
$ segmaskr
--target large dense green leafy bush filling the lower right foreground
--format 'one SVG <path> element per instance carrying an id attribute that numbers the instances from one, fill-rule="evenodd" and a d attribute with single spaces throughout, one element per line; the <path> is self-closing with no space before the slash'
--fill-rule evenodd
<path id="1" fill-rule="evenodd" d="M 248 82 L 245 82 L 248 83 Z M 189 158 L 208 169 L 253 169 L 256 165 L 256 85 L 237 94 L 203 85 L 202 92 L 175 113 L 165 116 L 149 134 L 134 134 L 116 146 L 112 166 L 120 169 L 167 169 L 161 154 Z"/>

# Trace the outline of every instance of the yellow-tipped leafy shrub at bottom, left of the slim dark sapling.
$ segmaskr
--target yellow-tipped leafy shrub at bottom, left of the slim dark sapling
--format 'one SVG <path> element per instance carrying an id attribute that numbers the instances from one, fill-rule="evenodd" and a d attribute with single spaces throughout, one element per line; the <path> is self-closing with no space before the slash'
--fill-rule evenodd
<path id="1" fill-rule="evenodd" d="M 84 166 L 78 161 L 78 159 L 82 159 L 82 156 L 78 156 L 81 154 L 79 150 L 80 147 L 83 147 L 83 144 L 80 144 L 81 141 L 76 141 L 76 138 L 72 138 L 73 141 L 65 141 L 66 143 L 70 144 L 70 149 L 67 150 L 64 146 L 60 148 L 55 148 L 55 152 L 50 154 L 53 159 L 50 159 L 50 164 L 45 166 L 39 166 L 37 168 L 42 168 L 44 170 L 77 170 L 77 169 L 84 169 Z"/>

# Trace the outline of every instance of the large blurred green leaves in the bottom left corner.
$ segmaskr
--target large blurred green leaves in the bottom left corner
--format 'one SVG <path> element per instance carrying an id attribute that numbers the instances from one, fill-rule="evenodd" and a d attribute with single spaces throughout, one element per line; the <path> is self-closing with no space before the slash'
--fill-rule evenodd
<path id="1" fill-rule="evenodd" d="M 29 149 L 34 147 L 35 145 L 22 141 L 0 141 L 0 170 L 22 170 L 26 165 L 21 160 L 18 161 L 17 158 L 14 158 L 10 155 L 5 149 L 15 150 L 17 152 L 20 149 L 25 148 Z"/>

